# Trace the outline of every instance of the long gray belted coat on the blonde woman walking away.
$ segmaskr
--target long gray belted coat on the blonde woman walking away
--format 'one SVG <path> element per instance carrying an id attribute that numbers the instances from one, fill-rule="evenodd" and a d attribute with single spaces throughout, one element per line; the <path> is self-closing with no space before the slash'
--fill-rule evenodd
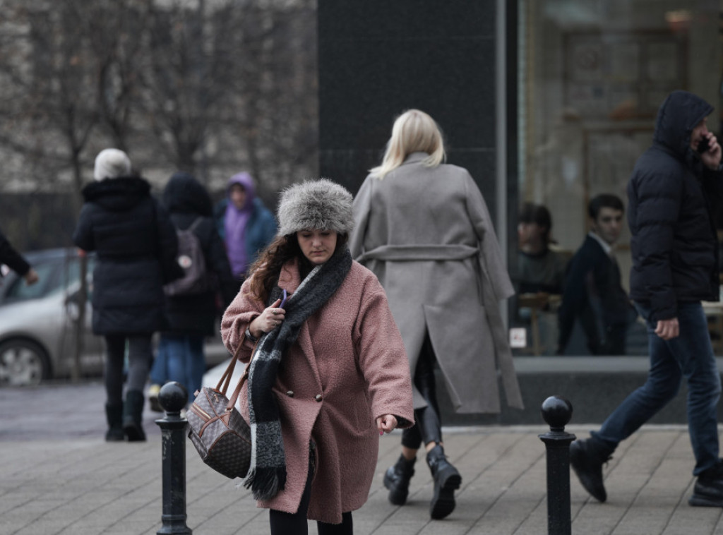
<path id="1" fill-rule="evenodd" d="M 459 413 L 522 408 L 499 301 L 514 294 L 482 193 L 466 169 L 412 153 L 354 200 L 355 260 L 377 275 L 414 377 L 425 332 Z M 426 405 L 414 388 L 414 408 Z"/>

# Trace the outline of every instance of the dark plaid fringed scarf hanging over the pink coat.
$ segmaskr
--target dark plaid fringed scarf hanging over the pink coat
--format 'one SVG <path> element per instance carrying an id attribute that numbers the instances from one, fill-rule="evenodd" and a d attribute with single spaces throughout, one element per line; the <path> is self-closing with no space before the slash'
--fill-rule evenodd
<path id="1" fill-rule="evenodd" d="M 244 487 L 252 489 L 257 500 L 270 500 L 286 484 L 281 422 L 272 391 L 278 366 L 299 336 L 301 325 L 333 296 L 349 269 L 351 254 L 346 247 L 335 252 L 325 264 L 316 266 L 286 301 L 286 317 L 281 325 L 260 338 L 251 357 L 248 377 L 251 466 Z M 277 286 L 270 302 L 280 295 L 281 289 Z"/>

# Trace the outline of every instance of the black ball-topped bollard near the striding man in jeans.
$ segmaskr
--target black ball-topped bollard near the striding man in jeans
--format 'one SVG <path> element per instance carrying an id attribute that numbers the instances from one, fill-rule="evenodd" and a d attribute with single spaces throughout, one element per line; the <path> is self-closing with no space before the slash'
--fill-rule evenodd
<path id="1" fill-rule="evenodd" d="M 560 395 L 542 402 L 542 419 L 549 432 L 539 435 L 547 450 L 547 534 L 570 535 L 570 442 L 575 435 L 565 432 L 573 406 Z"/>

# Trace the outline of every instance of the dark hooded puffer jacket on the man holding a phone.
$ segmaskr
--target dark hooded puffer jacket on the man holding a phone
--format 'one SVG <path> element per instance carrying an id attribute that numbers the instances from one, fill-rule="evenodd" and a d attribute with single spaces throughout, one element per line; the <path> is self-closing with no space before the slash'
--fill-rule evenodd
<path id="1" fill-rule="evenodd" d="M 675 91 L 656 119 L 653 145 L 628 182 L 633 268 L 630 298 L 651 307 L 651 319 L 677 315 L 677 301 L 718 301 L 719 267 L 714 208 L 723 176 L 690 149 L 690 133 L 713 107 Z"/>

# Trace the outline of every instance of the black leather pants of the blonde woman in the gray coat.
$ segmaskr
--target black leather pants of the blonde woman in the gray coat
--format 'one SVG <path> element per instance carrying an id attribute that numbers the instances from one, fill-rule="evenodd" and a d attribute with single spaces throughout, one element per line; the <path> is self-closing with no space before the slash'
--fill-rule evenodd
<path id="1" fill-rule="evenodd" d="M 427 406 L 414 410 L 414 427 L 404 429 L 402 432 L 402 445 L 412 450 L 419 450 L 429 442 L 442 442 L 442 420 L 440 407 L 437 404 L 437 388 L 435 384 L 435 362 L 437 357 L 429 340 L 429 333 L 424 336 L 422 351 L 419 351 L 419 360 L 414 370 L 414 386 L 427 401 Z"/>

